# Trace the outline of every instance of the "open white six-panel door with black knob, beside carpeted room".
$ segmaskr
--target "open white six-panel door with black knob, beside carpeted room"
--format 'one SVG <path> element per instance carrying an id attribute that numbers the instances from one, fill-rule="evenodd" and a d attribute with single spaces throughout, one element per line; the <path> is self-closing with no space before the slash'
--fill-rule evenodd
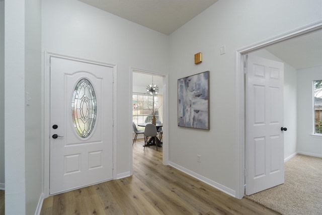
<path id="1" fill-rule="evenodd" d="M 284 183 L 284 64 L 248 56 L 246 194 Z"/>

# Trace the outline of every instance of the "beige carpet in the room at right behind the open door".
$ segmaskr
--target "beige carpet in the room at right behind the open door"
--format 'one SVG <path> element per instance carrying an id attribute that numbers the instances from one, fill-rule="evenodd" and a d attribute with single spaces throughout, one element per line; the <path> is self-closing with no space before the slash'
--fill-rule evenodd
<path id="1" fill-rule="evenodd" d="M 322 158 L 294 156 L 284 184 L 245 197 L 285 215 L 322 214 Z"/>

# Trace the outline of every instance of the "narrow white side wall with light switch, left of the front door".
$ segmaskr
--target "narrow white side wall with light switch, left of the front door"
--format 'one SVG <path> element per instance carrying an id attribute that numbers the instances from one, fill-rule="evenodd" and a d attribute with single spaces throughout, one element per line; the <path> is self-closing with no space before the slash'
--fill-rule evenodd
<path id="1" fill-rule="evenodd" d="M 25 9 L 25 106 L 26 214 L 34 214 L 42 193 L 42 69 L 41 0 L 26 1 Z"/>

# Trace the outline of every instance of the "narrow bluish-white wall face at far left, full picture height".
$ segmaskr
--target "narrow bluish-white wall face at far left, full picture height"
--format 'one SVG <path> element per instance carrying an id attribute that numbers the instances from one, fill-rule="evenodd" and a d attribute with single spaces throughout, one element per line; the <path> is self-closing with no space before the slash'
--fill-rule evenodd
<path id="1" fill-rule="evenodd" d="M 5 212 L 25 214 L 25 0 L 5 2 L 5 113 Z"/>

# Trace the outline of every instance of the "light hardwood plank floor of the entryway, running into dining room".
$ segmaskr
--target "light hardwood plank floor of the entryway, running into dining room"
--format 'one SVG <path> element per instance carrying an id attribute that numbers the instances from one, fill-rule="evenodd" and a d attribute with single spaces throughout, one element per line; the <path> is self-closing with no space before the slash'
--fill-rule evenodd
<path id="1" fill-rule="evenodd" d="M 133 145 L 133 176 L 50 196 L 41 214 L 278 214 L 162 165 L 162 149 L 143 145 Z"/>

